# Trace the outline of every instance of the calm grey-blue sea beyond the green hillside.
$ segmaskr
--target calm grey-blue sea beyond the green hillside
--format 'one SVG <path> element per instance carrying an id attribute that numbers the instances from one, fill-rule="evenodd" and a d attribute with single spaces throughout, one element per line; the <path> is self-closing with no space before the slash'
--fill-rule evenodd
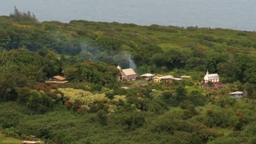
<path id="1" fill-rule="evenodd" d="M 0 15 L 9 15 L 14 5 L 34 12 L 39 21 L 83 19 L 256 31 L 256 0 L 0 0 Z"/>

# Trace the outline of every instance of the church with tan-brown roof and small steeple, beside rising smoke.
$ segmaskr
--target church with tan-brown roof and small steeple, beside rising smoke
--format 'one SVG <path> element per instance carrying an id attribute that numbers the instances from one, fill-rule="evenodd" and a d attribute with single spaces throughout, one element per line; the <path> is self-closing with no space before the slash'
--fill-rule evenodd
<path id="1" fill-rule="evenodd" d="M 120 76 L 118 76 L 117 80 L 137 80 L 137 74 L 134 72 L 132 68 L 130 69 L 122 69 L 119 64 L 117 66 L 117 69 L 120 70 Z"/>

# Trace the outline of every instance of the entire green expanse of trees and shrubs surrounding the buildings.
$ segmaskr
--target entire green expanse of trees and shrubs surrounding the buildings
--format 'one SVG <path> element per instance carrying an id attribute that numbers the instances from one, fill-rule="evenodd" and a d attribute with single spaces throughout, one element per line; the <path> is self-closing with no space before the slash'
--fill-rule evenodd
<path id="1" fill-rule="evenodd" d="M 47 144 L 253 144 L 255 59 L 256 32 L 38 22 L 15 8 L 0 16 L 0 133 Z M 125 90 L 117 64 L 191 78 Z M 229 85 L 205 91 L 206 69 Z M 69 83 L 44 83 L 55 75 Z"/>

